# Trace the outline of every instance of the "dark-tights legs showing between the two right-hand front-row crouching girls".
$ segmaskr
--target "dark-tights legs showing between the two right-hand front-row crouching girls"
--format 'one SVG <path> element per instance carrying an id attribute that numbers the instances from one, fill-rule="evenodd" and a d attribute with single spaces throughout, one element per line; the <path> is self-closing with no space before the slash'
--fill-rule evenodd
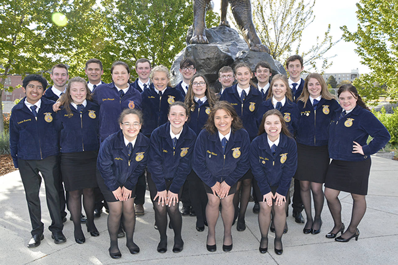
<path id="1" fill-rule="evenodd" d="M 234 207 L 235 207 L 235 218 L 238 216 L 238 222 L 245 221 L 246 208 L 248 207 L 249 199 L 250 199 L 250 191 L 252 189 L 252 179 L 244 179 L 242 181 L 238 181 L 236 185 L 236 192 L 234 195 Z M 240 208 L 238 211 L 238 206 L 240 202 Z"/>

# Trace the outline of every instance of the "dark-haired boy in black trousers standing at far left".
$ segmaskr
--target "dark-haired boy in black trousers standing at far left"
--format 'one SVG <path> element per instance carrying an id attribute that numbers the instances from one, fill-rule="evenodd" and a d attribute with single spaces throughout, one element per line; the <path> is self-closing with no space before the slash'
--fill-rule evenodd
<path id="1" fill-rule="evenodd" d="M 62 234 L 63 224 L 57 192 L 58 132 L 53 121 L 54 101 L 42 98 L 46 87 L 47 81 L 43 76 L 26 76 L 22 81 L 22 90 L 26 96 L 12 108 L 10 117 L 11 156 L 14 167 L 20 170 L 32 225 L 32 238 L 27 247 L 37 247 L 44 239 L 39 199 L 42 177 L 52 220 L 49 226 L 51 237 L 55 244 L 66 242 Z"/>

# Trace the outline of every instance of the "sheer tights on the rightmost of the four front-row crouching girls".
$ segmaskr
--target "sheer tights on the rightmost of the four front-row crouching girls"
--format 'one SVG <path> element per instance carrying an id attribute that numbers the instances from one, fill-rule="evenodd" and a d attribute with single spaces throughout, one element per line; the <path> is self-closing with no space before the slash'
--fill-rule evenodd
<path id="1" fill-rule="evenodd" d="M 282 235 L 283 229 L 286 224 L 286 210 L 285 210 L 285 202 L 282 203 L 281 206 L 276 206 L 275 202 L 270 207 L 266 202 L 259 202 L 260 212 L 258 214 L 258 224 L 260 227 L 261 233 L 261 241 L 260 247 L 265 248 L 268 247 L 268 230 L 269 223 L 271 222 L 271 209 L 274 212 L 273 216 L 273 224 L 275 226 L 275 240 L 274 245 L 276 249 L 282 249 Z"/>

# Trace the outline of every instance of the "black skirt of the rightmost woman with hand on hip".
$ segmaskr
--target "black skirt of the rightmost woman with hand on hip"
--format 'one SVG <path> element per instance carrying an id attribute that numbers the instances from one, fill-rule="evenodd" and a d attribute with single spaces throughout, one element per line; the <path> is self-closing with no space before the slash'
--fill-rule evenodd
<path id="1" fill-rule="evenodd" d="M 367 195 L 371 158 L 363 161 L 333 159 L 326 174 L 325 187 L 349 193 Z"/>

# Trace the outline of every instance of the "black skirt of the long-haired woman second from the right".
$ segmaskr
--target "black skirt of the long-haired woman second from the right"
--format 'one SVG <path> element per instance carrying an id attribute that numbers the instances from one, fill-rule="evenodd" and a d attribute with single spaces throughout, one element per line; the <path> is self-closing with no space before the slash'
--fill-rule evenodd
<path id="1" fill-rule="evenodd" d="M 330 163 L 328 146 L 308 146 L 297 143 L 297 180 L 324 183 Z"/>

